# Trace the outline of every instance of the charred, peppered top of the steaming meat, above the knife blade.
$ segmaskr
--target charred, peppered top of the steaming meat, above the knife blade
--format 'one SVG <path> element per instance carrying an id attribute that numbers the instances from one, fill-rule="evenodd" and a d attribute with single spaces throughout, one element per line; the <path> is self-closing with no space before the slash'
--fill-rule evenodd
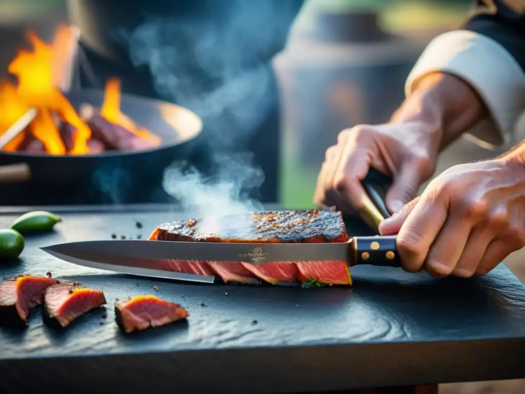
<path id="1" fill-rule="evenodd" d="M 218 233 L 201 229 L 203 220 L 163 223 L 150 235 L 152 241 L 188 242 L 268 242 L 323 243 L 346 242 L 344 222 L 338 211 L 256 212 L 226 215 L 217 219 Z M 238 223 L 239 227 L 236 228 Z"/>

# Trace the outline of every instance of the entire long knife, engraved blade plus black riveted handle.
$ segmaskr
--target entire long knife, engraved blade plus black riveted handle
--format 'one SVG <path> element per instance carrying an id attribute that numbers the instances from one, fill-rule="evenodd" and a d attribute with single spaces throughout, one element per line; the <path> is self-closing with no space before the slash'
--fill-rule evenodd
<path id="1" fill-rule="evenodd" d="M 215 243 L 173 241 L 81 241 L 41 250 L 77 265 L 124 274 L 213 283 L 211 275 L 176 272 L 177 261 L 268 264 L 272 262 L 345 261 L 349 266 L 400 266 L 395 236 L 353 237 L 345 243 Z"/>

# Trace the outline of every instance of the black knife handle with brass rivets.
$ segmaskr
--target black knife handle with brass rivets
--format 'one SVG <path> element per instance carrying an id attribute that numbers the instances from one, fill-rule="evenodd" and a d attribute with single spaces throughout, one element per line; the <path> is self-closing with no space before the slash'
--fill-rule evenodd
<path id="1" fill-rule="evenodd" d="M 353 237 L 350 261 L 357 264 L 381 265 L 384 267 L 401 267 L 397 252 L 395 235 L 376 235 Z"/>

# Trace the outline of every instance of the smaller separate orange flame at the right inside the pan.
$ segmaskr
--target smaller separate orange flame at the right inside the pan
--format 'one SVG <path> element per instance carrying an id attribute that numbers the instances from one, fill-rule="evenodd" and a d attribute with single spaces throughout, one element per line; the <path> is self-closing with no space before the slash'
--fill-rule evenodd
<path id="1" fill-rule="evenodd" d="M 135 136 L 150 141 L 154 146 L 159 146 L 161 143 L 160 137 L 144 127 L 138 127 L 135 122 L 120 112 L 120 80 L 117 78 L 110 78 L 106 82 L 100 115 L 108 122 L 122 126 Z"/>

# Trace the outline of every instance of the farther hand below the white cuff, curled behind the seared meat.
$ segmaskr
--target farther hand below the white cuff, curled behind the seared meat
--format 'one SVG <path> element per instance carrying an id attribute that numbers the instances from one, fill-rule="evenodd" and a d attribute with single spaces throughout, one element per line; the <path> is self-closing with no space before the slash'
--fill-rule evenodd
<path id="1" fill-rule="evenodd" d="M 326 151 L 314 203 L 346 212 L 359 209 L 364 193 L 361 180 L 372 167 L 393 178 L 386 205 L 396 212 L 433 174 L 438 148 L 439 129 L 425 121 L 343 130 L 337 144 Z"/>

